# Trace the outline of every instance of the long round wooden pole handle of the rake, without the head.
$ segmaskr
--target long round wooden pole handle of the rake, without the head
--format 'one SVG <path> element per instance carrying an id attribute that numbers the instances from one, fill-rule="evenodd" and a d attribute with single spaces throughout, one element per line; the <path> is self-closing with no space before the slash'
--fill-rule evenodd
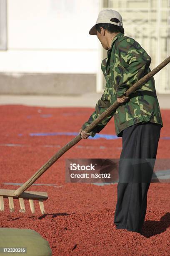
<path id="1" fill-rule="evenodd" d="M 156 73 L 158 73 L 163 67 L 165 67 L 170 62 L 170 56 L 165 59 L 161 64 L 159 64 L 155 69 L 153 69 L 150 73 L 146 74 L 143 78 L 141 78 L 138 82 L 133 84 L 126 92 L 125 95 L 129 96 L 131 93 L 135 92 L 135 90 L 142 85 L 143 83 L 147 82 L 151 77 L 153 77 Z M 109 107 L 105 112 L 103 112 L 100 116 L 98 116 L 90 125 L 88 125 L 84 131 L 89 133 L 97 126 L 98 123 L 100 123 L 107 115 L 110 115 L 113 110 L 118 108 L 120 103 L 117 102 L 117 100 Z M 52 164 L 57 161 L 66 151 L 68 151 L 72 146 L 77 144 L 81 140 L 81 135 L 77 135 L 75 138 L 73 138 L 69 143 L 67 143 L 65 146 L 63 146 L 55 155 L 53 155 L 41 168 L 35 172 L 34 175 L 28 181 L 26 181 L 21 187 L 15 190 L 14 194 L 16 196 L 20 196 L 22 192 L 24 192 L 26 189 L 28 189 Z"/>

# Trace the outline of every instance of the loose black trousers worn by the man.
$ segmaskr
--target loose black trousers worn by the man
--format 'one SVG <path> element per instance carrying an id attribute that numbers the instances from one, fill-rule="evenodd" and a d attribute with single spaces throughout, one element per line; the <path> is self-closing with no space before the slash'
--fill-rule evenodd
<path id="1" fill-rule="evenodd" d="M 156 159 L 161 125 L 141 122 L 122 133 L 121 159 Z M 125 160 L 124 160 L 125 161 Z M 126 176 L 128 169 L 119 167 Z M 123 182 L 117 184 L 117 204 L 114 223 L 117 229 L 142 233 L 147 208 L 150 182 Z"/>

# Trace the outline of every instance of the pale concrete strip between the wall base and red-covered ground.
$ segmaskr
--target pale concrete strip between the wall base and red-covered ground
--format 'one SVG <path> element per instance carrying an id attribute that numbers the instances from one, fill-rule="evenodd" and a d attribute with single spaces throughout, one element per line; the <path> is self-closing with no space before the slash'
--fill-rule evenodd
<path id="1" fill-rule="evenodd" d="M 0 105 L 28 105 L 40 107 L 89 107 L 95 108 L 101 93 L 76 96 L 0 95 Z M 160 108 L 170 109 L 170 94 L 157 94 Z"/>

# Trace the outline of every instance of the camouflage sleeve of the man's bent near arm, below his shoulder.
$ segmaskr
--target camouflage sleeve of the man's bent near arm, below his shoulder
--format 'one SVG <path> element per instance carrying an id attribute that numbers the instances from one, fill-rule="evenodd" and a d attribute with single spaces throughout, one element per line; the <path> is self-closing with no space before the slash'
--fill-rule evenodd
<path id="1" fill-rule="evenodd" d="M 128 90 L 145 75 L 145 70 L 150 66 L 151 58 L 146 51 L 137 49 L 134 44 L 125 48 L 122 41 L 118 47 L 123 48 L 123 51 L 119 51 L 120 65 L 117 66 L 117 75 L 114 79 L 116 95 L 121 97 L 125 90 Z"/>

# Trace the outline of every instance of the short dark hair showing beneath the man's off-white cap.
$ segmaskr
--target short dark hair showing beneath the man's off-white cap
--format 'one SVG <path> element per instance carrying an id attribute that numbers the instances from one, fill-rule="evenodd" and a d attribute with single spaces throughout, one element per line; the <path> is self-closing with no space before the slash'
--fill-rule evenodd
<path id="1" fill-rule="evenodd" d="M 111 18 L 112 22 L 120 22 L 120 20 L 116 19 L 116 18 Z M 96 30 L 101 33 L 101 29 L 100 27 L 106 29 L 109 33 L 116 33 L 116 32 L 121 32 L 124 34 L 124 28 L 122 26 L 117 26 L 111 23 L 99 23 L 95 25 Z"/>

